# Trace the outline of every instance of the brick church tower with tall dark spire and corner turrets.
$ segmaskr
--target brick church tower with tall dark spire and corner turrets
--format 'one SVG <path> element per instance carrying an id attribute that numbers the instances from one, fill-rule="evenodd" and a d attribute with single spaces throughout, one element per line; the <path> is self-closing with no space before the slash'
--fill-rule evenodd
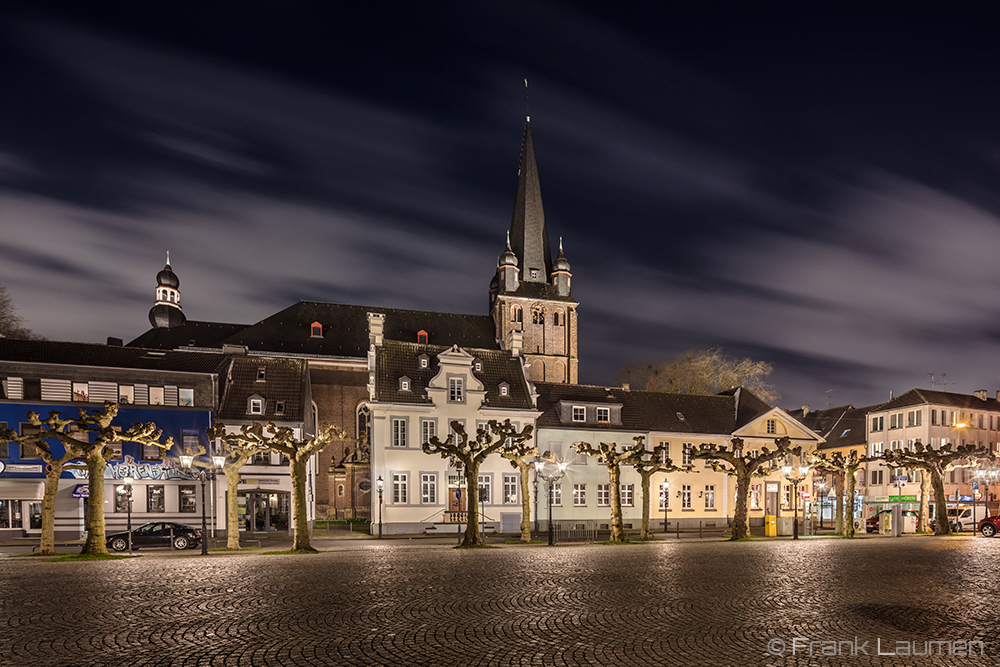
<path id="1" fill-rule="evenodd" d="M 538 184 L 531 117 L 524 123 L 521 167 L 507 247 L 490 283 L 490 314 L 504 349 L 520 347 L 536 382 L 577 382 L 577 313 L 569 261 L 552 261 Z"/>

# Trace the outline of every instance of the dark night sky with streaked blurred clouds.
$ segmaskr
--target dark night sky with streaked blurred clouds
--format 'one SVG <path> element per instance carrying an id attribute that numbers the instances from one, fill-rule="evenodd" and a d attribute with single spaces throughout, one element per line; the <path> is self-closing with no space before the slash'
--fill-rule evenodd
<path id="1" fill-rule="evenodd" d="M 527 78 L 581 382 L 721 345 L 786 407 L 1000 388 L 995 14 L 328 6 L 0 9 L 0 283 L 31 328 L 133 338 L 168 249 L 191 319 L 484 313 Z"/>

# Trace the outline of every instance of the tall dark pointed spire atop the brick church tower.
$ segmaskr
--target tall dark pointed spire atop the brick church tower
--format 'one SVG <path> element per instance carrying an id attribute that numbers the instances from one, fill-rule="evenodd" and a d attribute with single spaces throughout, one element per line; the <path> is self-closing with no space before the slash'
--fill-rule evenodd
<path id="1" fill-rule="evenodd" d="M 514 215 L 510 223 L 510 245 L 521 268 L 521 281 L 544 283 L 552 273 L 552 252 L 545 228 L 542 190 L 538 183 L 531 120 L 525 118 L 521 142 L 521 167 L 517 173 Z"/>

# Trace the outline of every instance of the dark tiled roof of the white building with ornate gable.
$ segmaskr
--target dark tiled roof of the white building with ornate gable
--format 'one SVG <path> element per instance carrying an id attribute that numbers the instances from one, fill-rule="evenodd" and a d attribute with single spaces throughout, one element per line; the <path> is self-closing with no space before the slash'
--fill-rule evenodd
<path id="1" fill-rule="evenodd" d="M 437 355 L 449 349 L 444 345 L 421 345 L 387 340 L 375 351 L 375 400 L 384 403 L 429 404 L 426 389 L 431 379 L 438 373 Z M 483 348 L 462 348 L 474 358 L 483 362 L 482 372 L 472 374 L 486 388 L 484 407 L 533 409 L 528 383 L 524 379 L 521 363 L 510 352 Z M 420 356 L 426 354 L 427 368 L 420 368 Z M 399 380 L 410 380 L 410 390 L 400 391 Z M 501 396 L 499 386 L 506 382 L 510 389 L 507 396 Z"/>

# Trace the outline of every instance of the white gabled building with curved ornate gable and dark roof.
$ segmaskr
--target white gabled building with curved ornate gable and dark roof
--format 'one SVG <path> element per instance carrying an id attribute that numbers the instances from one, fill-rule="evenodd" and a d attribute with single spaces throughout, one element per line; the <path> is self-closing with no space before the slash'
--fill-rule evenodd
<path id="1" fill-rule="evenodd" d="M 380 331 L 378 320 L 372 322 L 373 330 Z M 496 349 L 384 340 L 379 333 L 373 336 L 370 364 L 372 479 L 383 480 L 383 534 L 457 531 L 467 518 L 464 477 L 454 461 L 425 454 L 422 444 L 433 436 L 444 440 L 456 421 L 470 437 L 493 419 L 509 419 L 518 428 L 534 424 L 538 412 L 524 357 Z M 517 530 L 521 503 L 516 482 L 516 469 L 498 454 L 480 468 L 488 530 Z M 372 533 L 377 533 L 377 493 L 372 501 Z"/>

